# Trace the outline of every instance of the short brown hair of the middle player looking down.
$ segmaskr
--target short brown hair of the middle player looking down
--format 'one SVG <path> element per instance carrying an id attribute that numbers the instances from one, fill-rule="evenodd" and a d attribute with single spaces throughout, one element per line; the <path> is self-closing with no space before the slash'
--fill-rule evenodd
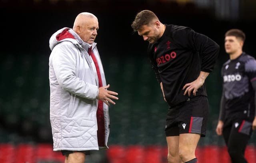
<path id="1" fill-rule="evenodd" d="M 131 26 L 136 32 L 137 30 L 140 30 L 142 26 L 150 24 L 153 19 L 158 19 L 154 12 L 150 10 L 142 10 L 136 14 Z"/>

